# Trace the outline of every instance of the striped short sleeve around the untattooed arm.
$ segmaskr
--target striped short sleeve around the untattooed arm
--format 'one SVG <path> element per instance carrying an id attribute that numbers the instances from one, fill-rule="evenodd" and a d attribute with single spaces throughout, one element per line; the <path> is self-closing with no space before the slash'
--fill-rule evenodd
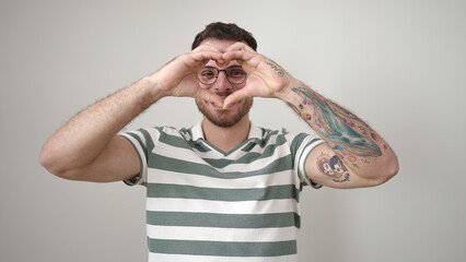
<path id="1" fill-rule="evenodd" d="M 124 182 L 128 186 L 145 184 L 148 177 L 148 139 L 150 139 L 148 131 L 139 129 L 137 131 L 121 132 L 118 133 L 118 135 L 124 136 L 132 144 L 138 153 L 139 163 L 141 165 L 139 176 L 133 179 L 124 180 Z"/>

